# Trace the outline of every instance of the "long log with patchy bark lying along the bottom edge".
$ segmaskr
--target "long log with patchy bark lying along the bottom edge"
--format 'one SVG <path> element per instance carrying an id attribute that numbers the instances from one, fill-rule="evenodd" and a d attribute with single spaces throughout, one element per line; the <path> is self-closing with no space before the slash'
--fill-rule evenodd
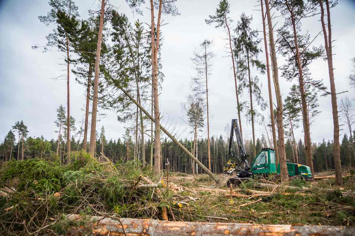
<path id="1" fill-rule="evenodd" d="M 80 215 L 69 215 L 79 220 Z M 92 216 L 93 235 L 250 235 L 250 236 L 308 236 L 308 235 L 355 235 L 355 227 L 317 225 L 263 225 L 244 223 L 182 222 L 151 219 L 112 218 Z M 86 225 L 87 226 L 87 225 Z M 124 231 L 122 230 L 124 229 Z"/>

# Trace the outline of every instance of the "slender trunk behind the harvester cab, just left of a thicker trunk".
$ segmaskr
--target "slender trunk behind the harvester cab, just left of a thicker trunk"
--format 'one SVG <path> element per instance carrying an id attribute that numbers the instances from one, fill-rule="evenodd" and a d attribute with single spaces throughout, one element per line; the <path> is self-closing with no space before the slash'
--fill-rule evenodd
<path id="1" fill-rule="evenodd" d="M 264 7 L 263 7 L 262 0 L 260 0 L 260 4 L 261 4 L 261 15 L 262 15 L 262 19 L 263 19 L 263 33 L 264 33 L 264 46 L 265 46 L 265 54 L 266 54 L 266 72 L 267 72 L 267 82 L 268 82 L 268 91 L 269 91 L 269 107 L 270 107 L 270 116 L 271 116 L 272 138 L 273 138 L 274 147 L 277 147 L 274 108 L 273 108 L 273 104 L 272 104 L 269 53 L 268 53 L 268 48 L 267 48 L 266 26 L 265 26 Z M 265 127 L 265 129 L 266 129 L 266 127 Z M 269 139 L 269 133 L 267 131 L 266 131 L 266 133 L 267 133 L 267 137 Z M 270 139 L 269 139 L 269 143 L 270 143 Z M 278 151 L 275 151 L 275 153 L 276 152 L 278 152 Z M 278 156 L 278 154 L 277 154 L 277 156 Z"/>

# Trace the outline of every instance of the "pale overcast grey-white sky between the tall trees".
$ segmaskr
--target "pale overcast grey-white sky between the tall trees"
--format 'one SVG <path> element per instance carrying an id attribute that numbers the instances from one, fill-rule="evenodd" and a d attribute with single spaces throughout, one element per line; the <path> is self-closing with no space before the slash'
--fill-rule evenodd
<path id="1" fill-rule="evenodd" d="M 146 1 L 147 2 L 147 1 Z M 213 40 L 212 51 L 215 57 L 212 61 L 211 76 L 208 81 L 209 114 L 211 136 L 222 134 L 226 137 L 225 127 L 230 125 L 231 119 L 237 118 L 236 98 L 234 88 L 233 69 L 230 57 L 226 52 L 226 33 L 222 28 L 207 25 L 205 19 L 214 15 L 218 5 L 217 0 L 178 0 L 176 6 L 179 16 L 163 16 L 162 27 L 164 35 L 161 49 L 162 72 L 165 79 L 159 96 L 160 112 L 163 116 L 162 124 L 182 138 L 191 138 L 190 129 L 186 125 L 185 111 L 181 103 L 186 102 L 187 96 L 192 94 L 190 81 L 196 75 L 193 70 L 191 57 L 198 44 L 204 39 Z M 87 18 L 88 10 L 97 10 L 98 0 L 76 0 L 81 18 Z M 125 13 L 134 22 L 136 19 L 149 23 L 150 13 L 143 7 L 143 16 L 133 14 L 124 0 L 110 0 L 110 4 L 117 7 L 117 11 Z M 252 29 L 262 30 L 262 18 L 259 1 L 230 1 L 230 15 L 235 27 L 242 12 L 252 15 Z M 66 80 L 53 80 L 65 74 L 63 55 L 55 48 L 49 52 L 33 50 L 33 45 L 44 45 L 45 36 L 51 33 L 54 25 L 49 27 L 40 23 L 39 15 L 46 15 L 50 10 L 47 0 L 0 0 L 0 142 L 11 127 L 18 120 L 23 120 L 28 126 L 29 136 L 43 135 L 50 140 L 56 138 L 56 109 L 60 104 L 66 107 Z M 282 25 L 284 19 L 280 13 L 275 12 L 275 28 Z M 349 91 L 338 95 L 338 101 L 348 96 L 355 99 L 354 89 L 349 88 L 348 76 L 353 70 L 351 58 L 355 57 L 355 1 L 339 0 L 339 4 L 331 9 L 333 64 L 337 92 Z M 276 23 L 277 22 L 277 23 Z M 150 23 L 149 23 L 150 24 Z M 321 31 L 319 15 L 307 18 L 302 22 L 302 30 L 309 30 L 311 36 Z M 262 38 L 262 32 L 259 34 Z M 324 44 L 322 34 L 313 42 L 314 46 Z M 263 41 L 260 44 L 263 48 Z M 264 51 L 264 50 L 263 50 Z M 259 59 L 265 62 L 265 53 L 260 53 Z M 284 64 L 284 58 L 278 55 L 278 65 Z M 330 88 L 327 62 L 318 59 L 309 67 L 314 79 L 322 79 Z M 252 75 L 258 75 L 262 83 L 262 96 L 268 103 L 267 76 L 252 70 Z M 297 81 L 288 82 L 280 77 L 280 90 L 285 99 L 290 87 Z M 85 88 L 75 83 L 75 75 L 71 74 L 70 84 L 70 113 L 76 119 L 77 127 L 84 115 Z M 240 101 L 249 99 L 245 91 Z M 273 91 L 275 103 L 275 94 Z M 333 138 L 332 105 L 330 96 L 319 98 L 319 110 L 311 126 L 312 142 L 321 142 Z M 97 130 L 105 127 L 107 139 L 118 139 L 125 133 L 129 123 L 117 121 L 115 111 L 105 110 L 107 114 L 97 123 Z M 262 112 L 267 118 L 269 108 Z M 245 114 L 242 114 L 242 130 L 245 139 L 252 137 L 251 124 L 247 123 Z M 300 124 L 300 126 L 302 126 Z M 344 126 L 342 126 L 344 127 Z M 342 128 L 341 127 L 341 128 Z M 229 129 L 229 128 L 228 128 Z M 340 131 L 340 139 L 344 130 Z M 256 125 L 256 137 L 261 137 L 265 132 L 263 125 Z M 269 135 L 271 135 L 269 133 Z M 207 137 L 206 127 L 200 137 Z M 295 130 L 295 138 L 303 139 L 301 128 Z"/>

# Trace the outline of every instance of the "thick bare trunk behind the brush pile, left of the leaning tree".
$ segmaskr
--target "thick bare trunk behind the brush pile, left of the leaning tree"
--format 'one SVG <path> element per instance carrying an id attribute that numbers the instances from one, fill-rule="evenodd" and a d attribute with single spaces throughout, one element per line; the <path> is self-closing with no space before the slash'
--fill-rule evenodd
<path id="1" fill-rule="evenodd" d="M 102 28 L 104 24 L 104 9 L 105 0 L 101 1 L 101 12 L 100 12 L 100 25 L 99 34 L 97 38 L 97 48 L 96 48 L 96 59 L 95 59 L 95 77 L 94 77 L 94 96 L 92 101 L 92 116 L 91 116 L 91 130 L 90 130 L 90 155 L 94 157 L 95 147 L 96 147 L 96 113 L 97 113 L 97 100 L 98 100 L 98 90 L 99 90 L 99 73 L 100 73 L 100 53 L 101 53 L 101 42 L 102 42 Z"/>

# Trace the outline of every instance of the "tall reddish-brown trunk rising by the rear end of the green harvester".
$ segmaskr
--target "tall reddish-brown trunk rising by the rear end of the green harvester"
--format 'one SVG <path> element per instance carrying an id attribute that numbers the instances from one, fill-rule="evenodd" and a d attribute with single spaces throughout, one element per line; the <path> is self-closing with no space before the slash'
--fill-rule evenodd
<path id="1" fill-rule="evenodd" d="M 291 14 L 291 22 L 293 26 L 293 35 L 295 40 L 295 48 L 296 48 L 296 59 L 298 64 L 298 71 L 299 71 L 299 85 L 300 85 L 300 95 L 301 95 L 301 103 L 302 103 L 302 110 L 303 110 L 303 122 L 305 125 L 305 136 L 306 136 L 306 159 L 308 160 L 307 165 L 311 168 L 312 176 L 314 176 L 314 168 L 313 168 L 313 161 L 312 161 L 312 143 L 311 143 L 311 134 L 310 134 L 310 124 L 308 119 L 308 111 L 307 111 L 307 104 L 306 104 L 306 93 L 304 88 L 304 80 L 303 80 L 303 73 L 302 73 L 302 65 L 300 60 L 300 52 L 298 48 L 297 42 L 297 33 L 296 33 L 296 24 L 293 11 L 290 9 L 288 2 L 286 0 L 286 6 Z M 335 142 L 335 140 L 334 140 Z"/>

